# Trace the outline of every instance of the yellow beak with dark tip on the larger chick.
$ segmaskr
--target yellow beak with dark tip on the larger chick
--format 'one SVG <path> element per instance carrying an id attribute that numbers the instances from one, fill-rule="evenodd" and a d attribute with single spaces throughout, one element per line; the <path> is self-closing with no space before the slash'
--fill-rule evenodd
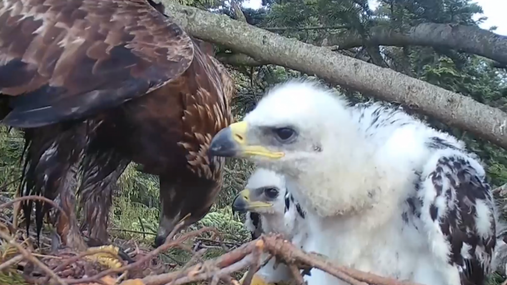
<path id="1" fill-rule="evenodd" d="M 247 140 L 248 124 L 244 121 L 231 124 L 215 134 L 209 146 L 209 156 L 247 157 L 264 156 L 280 158 L 282 152 L 271 152 L 263 146 L 249 145 Z"/>

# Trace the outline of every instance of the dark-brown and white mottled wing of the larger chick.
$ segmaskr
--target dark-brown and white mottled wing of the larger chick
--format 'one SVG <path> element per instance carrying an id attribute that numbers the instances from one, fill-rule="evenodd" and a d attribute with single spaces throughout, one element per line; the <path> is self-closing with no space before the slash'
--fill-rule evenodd
<path id="1" fill-rule="evenodd" d="M 463 150 L 442 145 L 421 177 L 421 220 L 430 248 L 442 262 L 439 268 L 453 284 L 484 284 L 496 238 L 494 202 L 483 167 Z"/>

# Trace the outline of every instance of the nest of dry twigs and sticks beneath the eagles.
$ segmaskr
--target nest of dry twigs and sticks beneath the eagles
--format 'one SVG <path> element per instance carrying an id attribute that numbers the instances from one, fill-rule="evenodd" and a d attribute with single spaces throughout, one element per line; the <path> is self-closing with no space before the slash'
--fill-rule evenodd
<path id="1" fill-rule="evenodd" d="M 0 209 L 2 207 L 0 204 Z M 107 250 L 107 254 L 87 252 L 95 254 L 94 256 L 77 253 L 69 248 L 51 251 L 51 239 L 43 235 L 41 246 L 35 247 L 33 234 L 26 236 L 23 230 L 16 229 L 9 221 L 0 212 L 2 284 L 180 285 L 209 280 L 211 285 L 216 285 L 219 281 L 239 285 L 237 280 L 241 278 L 244 269 L 249 268 L 241 278 L 243 285 L 249 285 L 252 280 L 256 280 L 255 272 L 267 262 L 262 260 L 266 256 L 262 253 L 267 253 L 268 259 L 275 258 L 291 269 L 293 282 L 297 285 L 304 284 L 301 270 L 309 272 L 311 268 L 318 268 L 352 285 L 420 285 L 335 265 L 323 256 L 301 251 L 279 234 L 263 234 L 256 240 L 237 247 L 233 245 L 231 248 L 222 241 L 222 235 L 214 228 L 205 227 L 176 235 L 183 226 L 180 223 L 165 243 L 156 249 L 133 241 L 115 240 L 133 260 L 133 263 L 126 264 L 118 261 L 118 251 L 113 250 L 113 246 L 96 249 Z M 223 254 L 203 260 L 205 253 L 216 247 L 223 248 Z M 162 262 L 162 256 L 174 248 L 190 253 L 191 260 L 176 264 Z"/>

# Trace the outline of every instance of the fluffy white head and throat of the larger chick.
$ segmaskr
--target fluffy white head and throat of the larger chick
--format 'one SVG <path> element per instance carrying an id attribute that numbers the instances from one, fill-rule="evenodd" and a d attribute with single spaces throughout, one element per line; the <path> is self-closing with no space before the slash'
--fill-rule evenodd
<path id="1" fill-rule="evenodd" d="M 370 148 L 359 127 L 343 96 L 315 82 L 288 81 L 217 133 L 208 154 L 247 158 L 284 175 L 304 208 L 327 216 L 368 195 L 360 181 Z"/>

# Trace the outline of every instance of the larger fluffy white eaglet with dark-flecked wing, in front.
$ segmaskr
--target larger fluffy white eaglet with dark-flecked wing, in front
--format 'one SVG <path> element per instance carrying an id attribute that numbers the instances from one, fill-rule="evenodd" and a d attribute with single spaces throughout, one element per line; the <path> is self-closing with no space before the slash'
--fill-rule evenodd
<path id="1" fill-rule="evenodd" d="M 209 155 L 283 174 L 307 212 L 307 252 L 427 285 L 483 285 L 491 270 L 496 209 L 477 156 L 390 104 L 286 82 L 216 134 Z"/>

